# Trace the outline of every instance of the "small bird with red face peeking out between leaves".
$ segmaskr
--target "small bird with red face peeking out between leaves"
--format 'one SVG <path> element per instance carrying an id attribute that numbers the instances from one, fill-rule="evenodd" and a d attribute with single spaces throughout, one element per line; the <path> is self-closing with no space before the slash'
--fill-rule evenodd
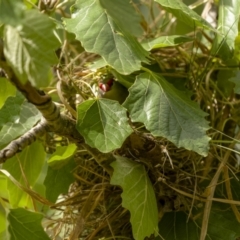
<path id="1" fill-rule="evenodd" d="M 127 88 L 114 79 L 100 82 L 98 86 L 101 97 L 118 101 L 120 104 L 122 104 L 128 96 Z"/>

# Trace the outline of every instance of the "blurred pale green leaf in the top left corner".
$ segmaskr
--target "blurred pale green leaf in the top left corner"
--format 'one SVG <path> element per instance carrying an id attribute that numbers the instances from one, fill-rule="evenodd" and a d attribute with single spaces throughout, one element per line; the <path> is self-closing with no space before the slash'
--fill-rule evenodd
<path id="1" fill-rule="evenodd" d="M 16 25 L 24 16 L 23 10 L 20 0 L 0 0 L 0 23 Z"/>

